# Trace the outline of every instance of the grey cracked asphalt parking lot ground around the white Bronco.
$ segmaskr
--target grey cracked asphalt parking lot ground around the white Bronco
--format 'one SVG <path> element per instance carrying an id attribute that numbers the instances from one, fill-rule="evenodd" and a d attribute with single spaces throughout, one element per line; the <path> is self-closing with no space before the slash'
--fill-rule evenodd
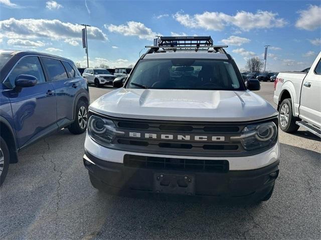
<path id="1" fill-rule="evenodd" d="M 272 103 L 273 82 L 257 93 Z M 90 87 L 91 101 L 112 90 Z M 19 153 L 0 188 L 0 239 L 320 239 L 321 144 L 280 132 L 280 176 L 255 205 L 99 193 L 83 166 L 85 133 L 67 129 Z"/>

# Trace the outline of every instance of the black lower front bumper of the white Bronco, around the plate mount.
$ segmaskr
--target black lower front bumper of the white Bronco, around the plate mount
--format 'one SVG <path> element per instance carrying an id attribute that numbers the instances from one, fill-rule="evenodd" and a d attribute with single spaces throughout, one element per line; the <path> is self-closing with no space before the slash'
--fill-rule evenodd
<path id="1" fill-rule="evenodd" d="M 229 170 L 227 172 L 182 171 L 128 167 L 123 163 L 99 159 L 85 151 L 84 165 L 91 180 L 100 189 L 122 193 L 157 192 L 154 184 L 155 174 L 193 175 L 195 191 L 193 194 L 211 196 L 219 199 L 237 198 L 260 200 L 274 186 L 278 176 L 279 160 L 253 170 Z"/>

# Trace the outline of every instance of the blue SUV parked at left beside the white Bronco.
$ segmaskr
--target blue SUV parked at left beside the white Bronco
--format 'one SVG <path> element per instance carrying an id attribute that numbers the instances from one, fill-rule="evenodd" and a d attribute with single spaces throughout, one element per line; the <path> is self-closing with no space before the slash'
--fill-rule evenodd
<path id="1" fill-rule="evenodd" d="M 18 150 L 68 127 L 87 127 L 89 91 L 72 60 L 32 51 L 0 50 L 0 185 Z"/>

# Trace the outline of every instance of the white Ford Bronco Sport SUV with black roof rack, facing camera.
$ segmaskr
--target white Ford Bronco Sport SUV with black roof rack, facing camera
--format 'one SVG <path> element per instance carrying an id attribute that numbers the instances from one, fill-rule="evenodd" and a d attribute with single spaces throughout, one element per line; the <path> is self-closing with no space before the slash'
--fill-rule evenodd
<path id="1" fill-rule="evenodd" d="M 270 198 L 277 111 L 211 37 L 161 37 L 89 106 L 84 165 L 111 193 Z"/>

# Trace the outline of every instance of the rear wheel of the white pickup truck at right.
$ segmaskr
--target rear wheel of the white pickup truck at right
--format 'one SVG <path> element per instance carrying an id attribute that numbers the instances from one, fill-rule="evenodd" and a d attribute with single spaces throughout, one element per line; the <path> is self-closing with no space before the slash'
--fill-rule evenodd
<path id="1" fill-rule="evenodd" d="M 285 132 L 295 132 L 299 129 L 299 125 L 295 123 L 298 117 L 293 115 L 291 98 L 286 98 L 281 102 L 279 108 L 279 125 Z"/>

